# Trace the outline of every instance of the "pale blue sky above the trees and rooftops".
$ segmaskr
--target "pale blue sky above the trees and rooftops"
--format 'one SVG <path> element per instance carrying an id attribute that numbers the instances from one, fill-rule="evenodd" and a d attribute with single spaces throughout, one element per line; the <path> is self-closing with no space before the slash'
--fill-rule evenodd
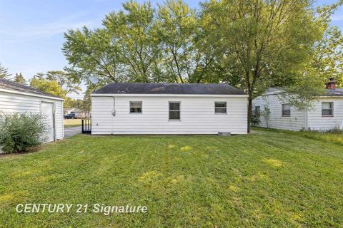
<path id="1" fill-rule="evenodd" d="M 61 70 L 68 64 L 61 48 L 69 28 L 97 28 L 110 11 L 121 9 L 121 0 L 0 0 L 0 63 L 9 73 Z M 139 0 L 139 2 L 142 2 Z M 151 1 L 157 4 L 163 1 Z M 185 0 L 192 8 L 199 2 Z M 316 5 L 334 0 L 317 0 Z M 332 16 L 343 31 L 343 7 Z"/>

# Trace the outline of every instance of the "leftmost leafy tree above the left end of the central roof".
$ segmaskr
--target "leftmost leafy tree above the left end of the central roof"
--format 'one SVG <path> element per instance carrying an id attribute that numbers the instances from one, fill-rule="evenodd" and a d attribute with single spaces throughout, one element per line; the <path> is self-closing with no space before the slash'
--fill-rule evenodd
<path id="1" fill-rule="evenodd" d="M 112 41 L 109 31 L 104 28 L 90 31 L 84 26 L 82 30 L 69 30 L 64 33 L 64 38 L 62 51 L 73 66 L 76 78 L 86 82 L 89 76 L 96 76 L 104 82 L 123 81 L 119 46 Z"/>

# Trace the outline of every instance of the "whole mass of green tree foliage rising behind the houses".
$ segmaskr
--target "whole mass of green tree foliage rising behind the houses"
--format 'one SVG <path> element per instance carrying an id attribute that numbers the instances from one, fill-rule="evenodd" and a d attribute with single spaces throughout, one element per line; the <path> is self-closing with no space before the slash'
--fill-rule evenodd
<path id="1" fill-rule="evenodd" d="M 339 4 L 316 11 L 307 0 L 220 0 L 197 12 L 182 0 L 158 9 L 126 1 L 102 28 L 65 33 L 63 51 L 87 84 L 90 76 L 101 84 L 229 83 L 249 95 L 250 122 L 252 99 L 269 87 L 287 87 L 303 108 L 324 93 L 324 78 L 342 77 L 342 34 L 329 28 Z"/>

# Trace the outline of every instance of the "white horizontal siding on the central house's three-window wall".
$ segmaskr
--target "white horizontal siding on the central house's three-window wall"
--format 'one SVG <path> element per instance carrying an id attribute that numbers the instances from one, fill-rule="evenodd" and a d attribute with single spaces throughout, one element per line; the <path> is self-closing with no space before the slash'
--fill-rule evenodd
<path id="1" fill-rule="evenodd" d="M 112 115 L 114 109 L 116 115 Z M 142 113 L 130 114 L 129 101 L 142 101 Z M 181 121 L 169 121 L 169 101 L 181 102 Z M 214 114 L 214 102 L 226 101 L 227 114 Z M 94 135 L 247 133 L 247 98 L 92 97 Z"/>

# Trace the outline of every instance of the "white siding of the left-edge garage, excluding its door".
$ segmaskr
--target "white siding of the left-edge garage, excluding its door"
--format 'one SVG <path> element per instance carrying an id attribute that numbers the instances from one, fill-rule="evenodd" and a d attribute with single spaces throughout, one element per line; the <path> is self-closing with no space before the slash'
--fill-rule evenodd
<path id="1" fill-rule="evenodd" d="M 0 113 L 41 113 L 41 101 L 54 103 L 56 140 L 64 137 L 63 101 L 0 91 Z"/>

